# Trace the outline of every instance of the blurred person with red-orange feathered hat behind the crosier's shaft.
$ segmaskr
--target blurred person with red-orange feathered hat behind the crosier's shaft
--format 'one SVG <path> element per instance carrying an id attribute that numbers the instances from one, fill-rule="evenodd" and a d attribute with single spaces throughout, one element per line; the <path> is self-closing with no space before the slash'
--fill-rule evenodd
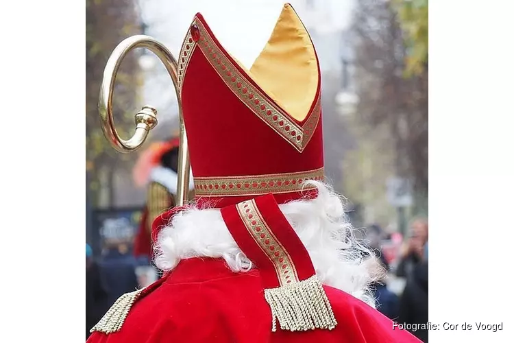
<path id="1" fill-rule="evenodd" d="M 134 240 L 134 255 L 138 259 L 151 261 L 153 257 L 151 223 L 158 215 L 175 206 L 177 193 L 179 139 L 152 143 L 143 152 L 134 166 L 134 183 L 147 187 L 147 202 L 141 217 L 138 234 Z M 190 178 L 191 188 L 193 178 Z"/>

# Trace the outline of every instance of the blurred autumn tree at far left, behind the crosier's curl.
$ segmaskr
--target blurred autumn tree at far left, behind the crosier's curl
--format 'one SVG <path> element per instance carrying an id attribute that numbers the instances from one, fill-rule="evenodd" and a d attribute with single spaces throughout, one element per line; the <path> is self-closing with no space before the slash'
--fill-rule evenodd
<path id="1" fill-rule="evenodd" d="M 140 33 L 136 0 L 86 0 L 86 168 L 94 206 L 109 206 L 113 199 L 117 168 L 133 161 L 132 154 L 119 154 L 103 137 L 97 110 L 103 69 L 118 43 Z M 121 64 L 114 88 L 116 127 L 122 137 L 134 128 L 134 110 L 142 84 L 138 56 L 129 54 Z"/>

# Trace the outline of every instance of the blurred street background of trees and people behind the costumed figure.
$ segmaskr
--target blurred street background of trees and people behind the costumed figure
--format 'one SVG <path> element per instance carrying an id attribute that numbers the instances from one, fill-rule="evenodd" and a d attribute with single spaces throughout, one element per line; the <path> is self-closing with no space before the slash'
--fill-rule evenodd
<path id="1" fill-rule="evenodd" d="M 347 198 L 356 235 L 388 270 L 374 285 L 379 310 L 398 322 L 428 322 L 428 0 L 290 3 L 321 62 L 326 176 Z M 127 36 L 148 34 L 176 56 L 194 14 L 202 12 L 225 48 L 249 67 L 282 5 L 282 0 L 86 0 L 86 257 L 91 261 L 86 264 L 97 268 L 97 277 L 89 280 L 104 284 L 105 306 L 123 287 L 130 291 L 156 277 L 145 261 L 131 259 L 146 196 L 132 177 L 138 154 L 115 152 L 99 125 L 99 87 L 110 53 Z M 173 84 L 148 51 L 125 58 L 114 93 L 122 137 L 129 137 L 144 104 L 159 113 L 150 141 L 178 129 Z M 110 259 L 112 249 L 119 253 L 116 261 Z M 117 265 L 139 269 L 124 283 L 114 277 L 119 285 L 113 286 L 113 278 L 102 275 L 123 269 Z M 103 314 L 103 306 L 88 308 Z M 415 334 L 428 342 L 426 332 Z"/>

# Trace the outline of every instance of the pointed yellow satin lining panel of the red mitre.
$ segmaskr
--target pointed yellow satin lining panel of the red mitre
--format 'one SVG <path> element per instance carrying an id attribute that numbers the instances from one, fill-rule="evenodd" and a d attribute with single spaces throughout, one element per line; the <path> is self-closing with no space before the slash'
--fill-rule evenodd
<path id="1" fill-rule="evenodd" d="M 318 63 L 310 36 L 289 3 L 249 73 L 291 117 L 305 119 L 315 101 Z"/>

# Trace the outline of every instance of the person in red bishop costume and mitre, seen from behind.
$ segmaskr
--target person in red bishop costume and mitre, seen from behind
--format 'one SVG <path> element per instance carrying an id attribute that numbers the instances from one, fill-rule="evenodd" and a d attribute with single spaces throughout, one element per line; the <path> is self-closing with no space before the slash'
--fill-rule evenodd
<path id="1" fill-rule="evenodd" d="M 154 221 L 164 275 L 88 342 L 419 342 L 374 308 L 372 252 L 323 183 L 321 71 L 291 5 L 250 70 L 196 14 L 178 75 L 195 205 Z"/>

